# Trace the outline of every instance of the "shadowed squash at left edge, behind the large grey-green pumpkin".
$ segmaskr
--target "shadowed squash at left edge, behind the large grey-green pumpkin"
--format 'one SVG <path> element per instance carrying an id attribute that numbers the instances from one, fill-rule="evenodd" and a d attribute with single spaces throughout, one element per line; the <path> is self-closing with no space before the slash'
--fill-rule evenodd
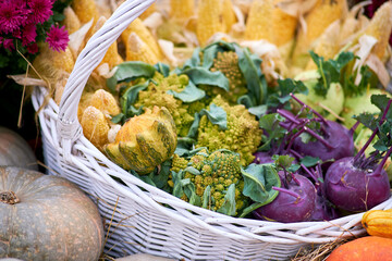
<path id="1" fill-rule="evenodd" d="M 12 165 L 38 171 L 37 159 L 25 139 L 0 126 L 0 165 Z"/>

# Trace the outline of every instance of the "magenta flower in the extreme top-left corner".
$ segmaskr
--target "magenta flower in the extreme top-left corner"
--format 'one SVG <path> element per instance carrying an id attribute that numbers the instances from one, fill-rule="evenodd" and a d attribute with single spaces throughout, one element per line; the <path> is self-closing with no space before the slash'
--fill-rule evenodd
<path id="1" fill-rule="evenodd" d="M 0 1 L 0 33 L 13 33 L 25 23 L 28 13 L 22 1 Z"/>

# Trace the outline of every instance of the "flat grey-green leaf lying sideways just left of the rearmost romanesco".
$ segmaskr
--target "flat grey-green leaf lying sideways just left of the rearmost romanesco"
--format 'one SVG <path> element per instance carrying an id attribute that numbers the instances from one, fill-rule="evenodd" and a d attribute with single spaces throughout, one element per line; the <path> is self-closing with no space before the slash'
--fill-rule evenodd
<path id="1" fill-rule="evenodd" d="M 211 85 L 229 91 L 229 79 L 220 71 L 210 72 L 205 67 L 189 67 L 181 72 L 186 74 L 195 85 Z"/>

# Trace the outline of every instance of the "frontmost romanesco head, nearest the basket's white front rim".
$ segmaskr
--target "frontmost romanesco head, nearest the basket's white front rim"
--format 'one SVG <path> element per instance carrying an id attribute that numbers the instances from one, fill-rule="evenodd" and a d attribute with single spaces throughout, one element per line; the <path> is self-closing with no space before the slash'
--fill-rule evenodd
<path id="1" fill-rule="evenodd" d="M 174 154 L 171 171 L 175 175 L 180 174 L 181 178 L 170 179 L 169 185 L 177 189 L 176 186 L 184 186 L 183 184 L 187 184 L 184 181 L 189 181 L 196 194 L 193 196 L 199 197 L 199 200 L 196 200 L 199 207 L 230 215 L 235 215 L 245 207 L 238 153 L 229 150 L 208 153 L 207 149 L 201 149 L 187 159 Z M 230 189 L 231 185 L 234 189 Z M 192 197 L 186 195 L 186 188 L 183 190 L 177 197 L 189 201 Z M 232 195 L 229 196 L 229 191 Z M 228 198 L 232 198 L 234 202 L 228 202 Z M 231 204 L 231 208 L 228 204 Z"/>

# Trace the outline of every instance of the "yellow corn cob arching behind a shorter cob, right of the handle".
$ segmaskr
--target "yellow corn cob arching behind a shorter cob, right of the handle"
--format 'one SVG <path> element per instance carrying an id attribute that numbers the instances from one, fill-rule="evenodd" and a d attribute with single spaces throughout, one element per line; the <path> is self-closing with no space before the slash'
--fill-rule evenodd
<path id="1" fill-rule="evenodd" d="M 157 39 L 152 36 L 151 32 L 143 24 L 143 21 L 140 18 L 135 18 L 130 24 L 130 26 L 121 34 L 121 39 L 124 42 L 126 49 L 132 48 L 127 47 L 131 33 L 135 33 L 143 42 L 147 44 L 150 50 L 159 60 L 163 59 L 163 53 L 158 45 Z"/>

